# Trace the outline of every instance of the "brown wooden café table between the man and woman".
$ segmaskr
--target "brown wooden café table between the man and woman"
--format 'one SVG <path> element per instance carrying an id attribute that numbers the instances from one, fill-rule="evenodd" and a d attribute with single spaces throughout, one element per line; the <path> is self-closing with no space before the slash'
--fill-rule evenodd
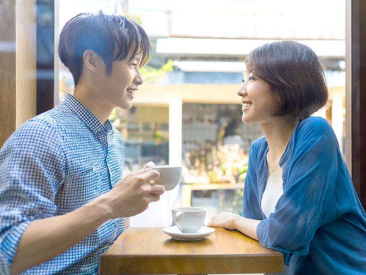
<path id="1" fill-rule="evenodd" d="M 128 228 L 100 256 L 106 274 L 282 272 L 284 256 L 237 231 L 216 228 L 201 241 L 176 241 L 162 228 Z"/>

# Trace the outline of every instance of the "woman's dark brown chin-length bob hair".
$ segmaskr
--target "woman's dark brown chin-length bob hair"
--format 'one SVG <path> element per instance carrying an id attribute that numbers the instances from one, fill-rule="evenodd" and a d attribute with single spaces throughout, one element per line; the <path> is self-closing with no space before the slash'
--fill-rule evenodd
<path id="1" fill-rule="evenodd" d="M 266 81 L 280 97 L 275 116 L 308 118 L 328 100 L 322 65 L 315 52 L 293 40 L 261 45 L 245 58 L 246 69 Z"/>

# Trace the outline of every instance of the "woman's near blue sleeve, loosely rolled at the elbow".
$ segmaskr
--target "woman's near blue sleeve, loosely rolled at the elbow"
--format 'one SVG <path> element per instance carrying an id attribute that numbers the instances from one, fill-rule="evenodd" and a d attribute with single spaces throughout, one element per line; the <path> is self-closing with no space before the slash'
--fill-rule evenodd
<path id="1" fill-rule="evenodd" d="M 315 231 L 330 219 L 326 210 L 334 196 L 336 173 L 333 141 L 321 136 L 298 145 L 288 175 L 283 175 L 288 185 L 276 211 L 258 224 L 260 244 L 281 251 L 286 264 L 292 254 L 308 254 Z"/>

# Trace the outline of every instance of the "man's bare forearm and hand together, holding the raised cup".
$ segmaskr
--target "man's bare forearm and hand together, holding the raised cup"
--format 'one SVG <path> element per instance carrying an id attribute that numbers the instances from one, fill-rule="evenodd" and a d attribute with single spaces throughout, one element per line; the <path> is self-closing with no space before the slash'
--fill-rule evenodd
<path id="1" fill-rule="evenodd" d="M 150 183 L 159 172 L 146 168 L 132 172 L 109 192 L 60 216 L 35 220 L 20 240 L 11 266 L 17 274 L 64 252 L 108 219 L 134 216 L 159 200 L 164 186 Z"/>

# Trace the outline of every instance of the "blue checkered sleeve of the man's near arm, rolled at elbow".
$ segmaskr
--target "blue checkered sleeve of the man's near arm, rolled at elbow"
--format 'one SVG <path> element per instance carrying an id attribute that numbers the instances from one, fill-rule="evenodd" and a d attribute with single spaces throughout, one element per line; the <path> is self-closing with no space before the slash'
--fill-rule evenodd
<path id="1" fill-rule="evenodd" d="M 0 150 L 0 273 L 7 274 L 20 238 L 34 220 L 54 216 L 65 161 L 46 122 L 28 121 Z"/>

